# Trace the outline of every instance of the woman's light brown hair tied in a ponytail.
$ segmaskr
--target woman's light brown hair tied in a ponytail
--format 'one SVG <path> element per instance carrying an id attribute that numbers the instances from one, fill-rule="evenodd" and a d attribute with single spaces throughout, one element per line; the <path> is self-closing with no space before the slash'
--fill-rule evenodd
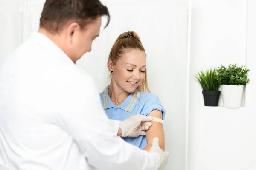
<path id="1" fill-rule="evenodd" d="M 143 47 L 139 35 L 135 31 L 124 32 L 117 37 L 114 45 L 111 48 L 108 59 L 111 59 L 113 64 L 115 65 L 117 60 L 121 57 L 122 54 L 127 52 L 127 50 L 136 49 L 145 52 L 145 48 Z M 110 79 L 112 74 L 110 74 Z M 145 72 L 145 78 L 141 82 L 141 84 L 137 87 L 138 91 L 149 92 L 151 91 L 148 88 L 148 79 L 147 79 L 147 71 Z"/>

